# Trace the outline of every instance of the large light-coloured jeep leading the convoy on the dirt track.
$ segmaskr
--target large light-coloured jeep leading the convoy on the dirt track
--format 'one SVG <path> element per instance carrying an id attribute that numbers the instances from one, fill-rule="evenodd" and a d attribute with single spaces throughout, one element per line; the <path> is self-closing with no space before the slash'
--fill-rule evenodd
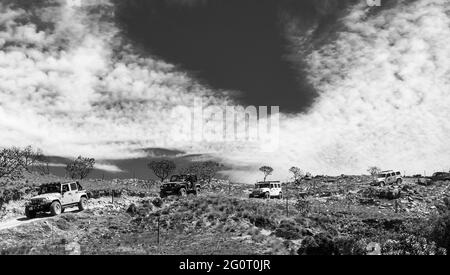
<path id="1" fill-rule="evenodd" d="M 64 212 L 64 209 L 78 206 L 86 208 L 88 196 L 78 181 L 52 182 L 39 187 L 37 196 L 25 205 L 25 215 L 32 219 L 39 212 L 50 212 L 53 216 Z"/>

